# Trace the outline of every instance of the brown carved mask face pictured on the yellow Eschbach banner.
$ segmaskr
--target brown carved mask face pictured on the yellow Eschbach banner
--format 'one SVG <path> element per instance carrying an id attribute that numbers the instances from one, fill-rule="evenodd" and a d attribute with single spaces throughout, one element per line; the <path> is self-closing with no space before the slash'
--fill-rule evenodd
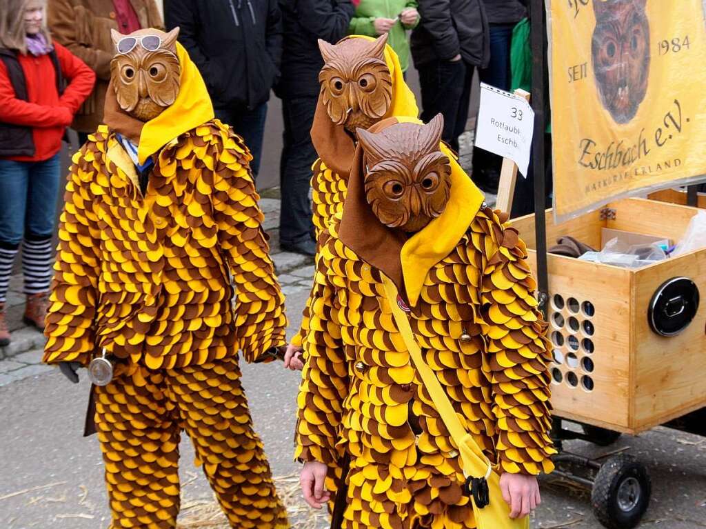
<path id="1" fill-rule="evenodd" d="M 650 24 L 647 0 L 594 0 L 593 69 L 604 107 L 628 123 L 647 93 Z"/>

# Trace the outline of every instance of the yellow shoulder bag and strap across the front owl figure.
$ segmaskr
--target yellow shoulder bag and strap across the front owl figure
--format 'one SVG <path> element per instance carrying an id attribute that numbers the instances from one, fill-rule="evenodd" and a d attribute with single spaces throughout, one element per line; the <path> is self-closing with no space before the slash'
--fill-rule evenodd
<path id="1" fill-rule="evenodd" d="M 510 518 L 510 506 L 505 503 L 503 493 L 500 489 L 500 475 L 493 468 L 491 462 L 486 458 L 473 436 L 462 426 L 456 415 L 453 405 L 448 396 L 439 384 L 436 374 L 426 365 L 421 356 L 421 350 L 417 340 L 409 326 L 409 319 L 405 311 L 397 302 L 399 295 L 395 283 L 383 275 L 385 295 L 388 298 L 390 307 L 397 322 L 397 328 L 405 340 L 409 355 L 412 356 L 414 366 L 421 376 L 421 381 L 431 400 L 433 400 L 436 410 L 441 415 L 446 429 L 460 451 L 463 473 L 467 479 L 467 492 L 471 492 L 473 514 L 478 529 L 529 529 L 530 518 Z M 469 489 L 469 490 L 468 490 Z"/>

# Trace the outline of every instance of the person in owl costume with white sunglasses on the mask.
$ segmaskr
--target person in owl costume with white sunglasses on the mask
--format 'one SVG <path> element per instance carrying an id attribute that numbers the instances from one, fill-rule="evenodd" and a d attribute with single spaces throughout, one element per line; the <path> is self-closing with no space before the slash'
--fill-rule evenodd
<path id="1" fill-rule="evenodd" d="M 287 528 L 238 366 L 285 345 L 284 297 L 249 150 L 178 34 L 113 32 L 104 124 L 68 175 L 44 362 L 73 381 L 103 369 L 111 529 L 176 527 L 182 430 L 232 527 Z"/>

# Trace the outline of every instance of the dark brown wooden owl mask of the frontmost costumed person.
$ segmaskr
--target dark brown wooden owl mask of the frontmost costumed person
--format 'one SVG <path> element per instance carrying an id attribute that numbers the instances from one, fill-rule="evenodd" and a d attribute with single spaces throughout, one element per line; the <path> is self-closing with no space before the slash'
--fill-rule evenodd
<path id="1" fill-rule="evenodd" d="M 418 232 L 443 213 L 451 165 L 439 150 L 442 132 L 441 114 L 428 125 L 398 123 L 379 133 L 358 129 L 366 200 L 385 226 Z"/>

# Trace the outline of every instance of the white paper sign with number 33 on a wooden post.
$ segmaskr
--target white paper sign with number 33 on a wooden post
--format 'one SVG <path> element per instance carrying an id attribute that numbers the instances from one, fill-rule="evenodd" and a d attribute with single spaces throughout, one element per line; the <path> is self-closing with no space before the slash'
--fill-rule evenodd
<path id="1" fill-rule="evenodd" d="M 534 133 L 534 110 L 524 97 L 481 83 L 476 147 L 510 158 L 527 178 Z"/>

